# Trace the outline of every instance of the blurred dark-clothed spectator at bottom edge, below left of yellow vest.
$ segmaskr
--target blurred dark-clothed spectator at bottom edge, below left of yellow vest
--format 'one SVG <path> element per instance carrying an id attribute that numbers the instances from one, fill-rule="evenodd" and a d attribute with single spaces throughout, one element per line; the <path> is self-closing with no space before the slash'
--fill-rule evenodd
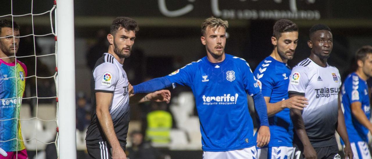
<path id="1" fill-rule="evenodd" d="M 152 147 L 150 142 L 144 142 L 141 132 L 133 131 L 130 135 L 132 147 L 128 147 L 125 152 L 128 159 L 170 159 Z"/>

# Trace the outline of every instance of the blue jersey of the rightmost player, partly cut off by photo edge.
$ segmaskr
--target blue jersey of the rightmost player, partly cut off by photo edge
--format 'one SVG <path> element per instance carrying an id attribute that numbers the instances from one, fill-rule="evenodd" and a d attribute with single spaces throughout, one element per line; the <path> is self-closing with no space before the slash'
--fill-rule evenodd
<path id="1" fill-rule="evenodd" d="M 368 143 L 368 129 L 359 123 L 351 111 L 351 104 L 360 102 L 362 103 L 364 114 L 368 119 L 370 118 L 371 107 L 369 105 L 367 82 L 353 72 L 347 76 L 341 90 L 341 106 L 344 110 L 346 130 L 350 142 L 365 141 Z"/>

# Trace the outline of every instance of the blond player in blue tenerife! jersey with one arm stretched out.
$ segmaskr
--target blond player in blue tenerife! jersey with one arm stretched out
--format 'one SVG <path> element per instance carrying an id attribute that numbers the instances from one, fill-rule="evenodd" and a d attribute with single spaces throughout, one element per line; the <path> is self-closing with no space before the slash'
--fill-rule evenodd
<path id="1" fill-rule="evenodd" d="M 195 96 L 205 159 L 233 159 L 257 156 L 256 145 L 270 140 L 267 108 L 248 63 L 225 53 L 228 22 L 210 17 L 202 23 L 201 42 L 207 56 L 187 64 L 166 77 L 133 86 L 134 93 L 187 85 Z M 247 108 L 247 94 L 253 96 L 260 119 L 257 141 Z"/>

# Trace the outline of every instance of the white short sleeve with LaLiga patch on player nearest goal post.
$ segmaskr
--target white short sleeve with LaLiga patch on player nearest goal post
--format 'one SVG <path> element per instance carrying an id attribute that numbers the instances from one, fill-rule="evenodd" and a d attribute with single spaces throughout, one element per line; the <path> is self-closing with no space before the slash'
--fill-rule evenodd
<path id="1" fill-rule="evenodd" d="M 113 93 L 120 74 L 118 68 L 109 62 L 97 66 L 93 71 L 95 92 Z"/>

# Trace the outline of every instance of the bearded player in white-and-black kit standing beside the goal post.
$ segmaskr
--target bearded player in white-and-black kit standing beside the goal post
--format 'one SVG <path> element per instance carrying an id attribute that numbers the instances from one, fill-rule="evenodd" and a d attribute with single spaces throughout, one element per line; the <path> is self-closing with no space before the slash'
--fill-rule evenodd
<path id="1" fill-rule="evenodd" d="M 94 66 L 91 80 L 92 121 L 86 136 L 87 150 L 92 158 L 126 159 L 124 150 L 129 124 L 129 103 L 148 100 L 169 103 L 168 90 L 129 95 L 132 87 L 123 63 L 131 54 L 137 31 L 138 26 L 133 19 L 117 17 L 107 36 L 110 43 L 108 53 L 104 53 Z"/>

